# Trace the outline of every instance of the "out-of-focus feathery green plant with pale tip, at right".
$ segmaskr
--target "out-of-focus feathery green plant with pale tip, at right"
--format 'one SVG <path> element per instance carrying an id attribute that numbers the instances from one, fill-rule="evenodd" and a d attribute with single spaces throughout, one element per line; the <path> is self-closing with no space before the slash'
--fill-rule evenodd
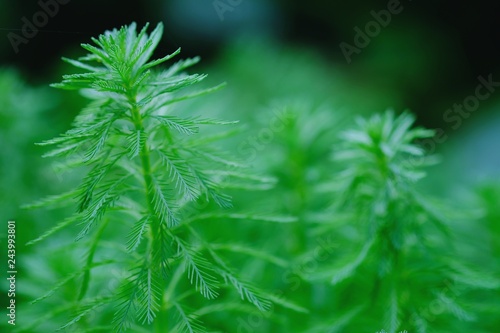
<path id="1" fill-rule="evenodd" d="M 341 135 L 334 161 L 345 168 L 331 183 L 336 200 L 330 223 L 317 220 L 316 233 L 344 230 L 337 233 L 344 253 L 312 279 L 328 279 L 337 288 L 337 306 L 352 290 L 363 297 L 358 306 L 313 331 L 354 332 L 367 326 L 391 333 L 457 331 L 477 318 L 467 292 L 498 287 L 477 268 L 453 258 L 448 223 L 464 218 L 416 187 L 425 176 L 422 167 L 433 162 L 418 140 L 433 137 L 434 131 L 412 129 L 414 121 L 409 113 L 395 117 L 386 112 L 358 119 L 358 129 Z"/>

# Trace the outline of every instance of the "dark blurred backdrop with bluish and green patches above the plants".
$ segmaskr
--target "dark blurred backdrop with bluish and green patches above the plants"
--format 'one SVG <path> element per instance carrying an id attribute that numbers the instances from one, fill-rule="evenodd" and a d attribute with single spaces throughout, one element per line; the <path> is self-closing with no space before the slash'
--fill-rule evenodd
<path id="1" fill-rule="evenodd" d="M 478 76 L 492 75 L 493 80 L 500 76 L 500 24 L 492 1 L 401 1 L 401 12 L 392 15 L 389 25 L 371 38 L 360 54 L 353 54 L 349 64 L 340 43 L 353 45 L 354 28 L 364 30 L 373 20 L 371 11 L 387 9 L 390 1 L 63 3 L 34 38 L 19 45 L 16 53 L 7 35 L 21 33 L 22 18 L 32 21 L 41 7 L 36 1 L 2 1 L 3 67 L 15 67 L 26 81 L 46 85 L 60 77 L 60 57 L 80 54 L 78 45 L 91 36 L 132 21 L 140 25 L 162 21 L 167 29 L 159 54 L 182 47 L 185 57 L 200 55 L 201 67 L 209 68 L 217 62 L 224 63 L 224 56 L 230 54 L 228 49 L 238 41 L 240 45 L 249 45 L 251 40 L 265 40 L 268 44 L 264 48 L 281 52 L 277 56 L 294 51 L 314 54 L 315 63 L 326 67 L 321 70 L 323 77 L 317 79 L 339 82 L 332 89 L 326 88 L 324 97 L 335 97 L 350 112 L 409 109 L 418 115 L 420 124 L 447 131 L 452 123 L 446 122 L 443 114 L 474 93 Z M 258 59 L 249 66 L 258 67 Z M 307 89 L 310 82 L 297 85 Z M 462 136 L 483 115 L 495 113 L 493 105 L 497 100 L 496 94 L 492 94 L 481 101 L 479 110 L 461 126 Z M 71 112 L 66 113 L 68 118 L 72 118 Z M 478 126 L 486 126 L 483 124 Z M 493 125 L 498 125 L 498 120 L 486 126 L 485 131 L 494 132 Z M 452 136 L 456 133 L 450 132 Z M 489 141 L 489 135 L 493 134 L 484 134 L 482 140 Z M 470 158 L 484 157 L 478 152 Z M 479 164 L 487 164 L 482 162 Z"/>

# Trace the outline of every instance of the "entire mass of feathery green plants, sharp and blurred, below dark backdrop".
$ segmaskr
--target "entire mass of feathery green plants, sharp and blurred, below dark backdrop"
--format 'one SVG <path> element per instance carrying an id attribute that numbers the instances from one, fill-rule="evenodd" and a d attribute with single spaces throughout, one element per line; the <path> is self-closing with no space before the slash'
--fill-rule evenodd
<path id="1" fill-rule="evenodd" d="M 146 28 L 106 32 L 66 59 L 85 74 L 55 86 L 90 105 L 40 147 L 29 148 L 67 128 L 44 110 L 80 109 L 70 106 L 80 96 L 33 94 L 0 74 L 0 136 L 12 145 L 0 176 L 13 189 L 2 204 L 19 239 L 48 229 L 18 248 L 14 332 L 495 331 L 499 283 L 484 271 L 498 271 L 498 185 L 451 208 L 436 200 L 423 170 L 442 179 L 446 202 L 462 180 L 426 168 L 434 158 L 419 141 L 433 131 L 414 129 L 411 114 L 342 132 L 351 113 L 401 105 L 400 91 L 359 86 L 304 50 L 244 41 L 204 70 L 211 84 L 231 82 L 205 95 L 217 87 L 193 90 L 205 76 L 184 72 L 197 59 L 149 60 L 161 25 Z M 226 111 L 245 127 L 214 119 Z M 47 146 L 58 178 L 38 157 Z M 56 209 L 15 213 L 40 192 L 62 194 L 31 206 Z"/>

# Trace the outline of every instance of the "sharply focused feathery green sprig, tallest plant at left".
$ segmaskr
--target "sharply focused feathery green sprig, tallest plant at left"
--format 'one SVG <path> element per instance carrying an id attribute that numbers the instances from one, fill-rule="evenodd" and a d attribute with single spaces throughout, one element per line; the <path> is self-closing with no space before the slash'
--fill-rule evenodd
<path id="1" fill-rule="evenodd" d="M 193 137 L 201 125 L 234 122 L 173 114 L 172 106 L 176 102 L 217 87 L 180 94 L 183 88 L 205 78 L 205 75 L 182 72 L 198 59 L 179 61 L 168 69 L 157 70 L 158 65 L 170 60 L 179 50 L 150 60 L 163 28 L 159 24 L 149 35 L 147 28 L 146 25 L 137 33 L 136 25 L 131 24 L 93 38 L 95 46 L 83 44 L 90 52 L 87 56 L 64 60 L 86 72 L 65 75 L 61 83 L 53 85 L 80 90 L 92 102 L 77 116 L 71 130 L 41 144 L 56 146 L 45 156 L 65 157 L 68 166 L 89 171 L 75 190 L 35 204 L 72 203 L 71 198 L 76 198 L 78 209 L 34 242 L 73 223 L 81 226 L 77 239 L 90 235 L 91 247 L 78 296 L 83 302 L 104 229 L 123 223 L 130 229 L 128 236 L 123 237 L 129 253 L 124 259 L 130 263 L 129 277 L 115 294 L 106 295 L 105 300 L 84 302 L 82 314 L 63 328 L 78 322 L 89 308 L 115 302 L 118 310 L 114 330 L 118 332 L 129 328 L 134 317 L 141 323 L 152 323 L 158 312 L 166 310 L 177 313 L 175 329 L 178 331 L 202 331 L 198 318 L 186 313 L 179 303 L 186 295 L 181 300 L 164 297 L 165 286 L 177 283 L 170 278 L 171 270 L 179 269 L 185 271 L 194 288 L 208 299 L 216 298 L 223 285 L 232 285 L 242 299 L 258 309 L 269 306 L 250 285 L 234 275 L 190 224 L 183 224 L 184 219 L 193 220 L 190 215 L 199 214 L 193 213 L 190 203 L 209 200 L 222 208 L 231 207 L 230 197 L 221 191 L 220 179 L 222 176 L 227 181 L 229 174 L 234 175 L 229 171 L 234 171 L 237 163 L 210 145 L 213 140 Z M 259 181 L 255 177 L 248 179 Z M 231 216 L 235 215 L 227 215 Z"/>

